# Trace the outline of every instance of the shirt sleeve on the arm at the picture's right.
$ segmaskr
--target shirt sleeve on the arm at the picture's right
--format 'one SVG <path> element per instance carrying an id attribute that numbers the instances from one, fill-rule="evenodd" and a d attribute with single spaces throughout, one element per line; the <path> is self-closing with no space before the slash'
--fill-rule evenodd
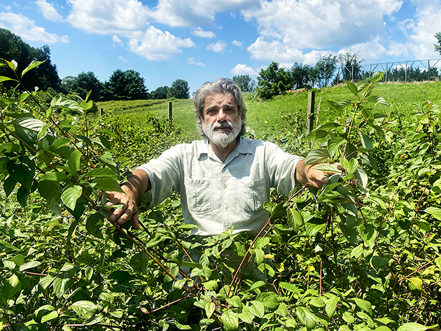
<path id="1" fill-rule="evenodd" d="M 267 142 L 267 171 L 271 187 L 276 188 L 277 192 L 286 197 L 296 185 L 295 167 L 297 162 L 303 160 L 303 157 L 283 152 L 279 146 Z"/>

